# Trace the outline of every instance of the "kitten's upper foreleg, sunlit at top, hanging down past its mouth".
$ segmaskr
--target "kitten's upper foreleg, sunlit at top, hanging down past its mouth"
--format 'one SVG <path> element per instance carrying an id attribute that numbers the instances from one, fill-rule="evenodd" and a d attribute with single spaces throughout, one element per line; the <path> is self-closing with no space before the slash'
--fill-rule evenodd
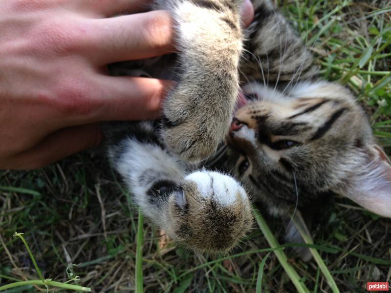
<path id="1" fill-rule="evenodd" d="M 185 160 L 213 153 L 226 135 L 238 96 L 241 0 L 157 0 L 171 12 L 180 53 L 179 83 L 164 101 L 161 137 Z M 218 102 L 217 102 L 218 101 Z"/>

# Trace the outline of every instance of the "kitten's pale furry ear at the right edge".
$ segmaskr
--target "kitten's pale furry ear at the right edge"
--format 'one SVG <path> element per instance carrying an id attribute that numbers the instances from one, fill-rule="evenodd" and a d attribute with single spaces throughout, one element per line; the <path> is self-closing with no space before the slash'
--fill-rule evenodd
<path id="1" fill-rule="evenodd" d="M 378 215 L 391 217 L 391 162 L 376 145 L 365 152 L 363 166 L 352 170 L 338 193 Z"/>

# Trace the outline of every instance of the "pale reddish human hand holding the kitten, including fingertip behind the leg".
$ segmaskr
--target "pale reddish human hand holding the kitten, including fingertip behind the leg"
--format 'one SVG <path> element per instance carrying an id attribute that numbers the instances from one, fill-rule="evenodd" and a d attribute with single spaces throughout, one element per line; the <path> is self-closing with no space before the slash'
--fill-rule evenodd
<path id="1" fill-rule="evenodd" d="M 175 51 L 170 15 L 143 12 L 149 2 L 1 0 L 0 169 L 43 167 L 97 146 L 102 121 L 159 115 L 170 82 L 106 69 Z M 242 11 L 248 25 L 249 0 Z"/>

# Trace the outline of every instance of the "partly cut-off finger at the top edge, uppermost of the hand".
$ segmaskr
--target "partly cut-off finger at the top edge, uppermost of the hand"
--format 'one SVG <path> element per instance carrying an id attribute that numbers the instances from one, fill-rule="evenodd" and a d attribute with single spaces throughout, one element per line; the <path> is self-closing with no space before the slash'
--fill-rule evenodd
<path id="1" fill-rule="evenodd" d="M 149 10 L 152 0 L 71 0 L 70 5 L 77 12 L 93 13 L 101 17 L 138 13 Z"/>

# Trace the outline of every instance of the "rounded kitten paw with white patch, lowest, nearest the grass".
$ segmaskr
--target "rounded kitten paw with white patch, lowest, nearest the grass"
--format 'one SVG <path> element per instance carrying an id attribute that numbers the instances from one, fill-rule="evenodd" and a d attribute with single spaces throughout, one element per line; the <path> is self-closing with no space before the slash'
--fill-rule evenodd
<path id="1" fill-rule="evenodd" d="M 198 252 L 230 251 L 252 226 L 245 190 L 231 177 L 217 172 L 198 171 L 186 176 L 170 199 L 168 213 L 166 232 Z"/>

